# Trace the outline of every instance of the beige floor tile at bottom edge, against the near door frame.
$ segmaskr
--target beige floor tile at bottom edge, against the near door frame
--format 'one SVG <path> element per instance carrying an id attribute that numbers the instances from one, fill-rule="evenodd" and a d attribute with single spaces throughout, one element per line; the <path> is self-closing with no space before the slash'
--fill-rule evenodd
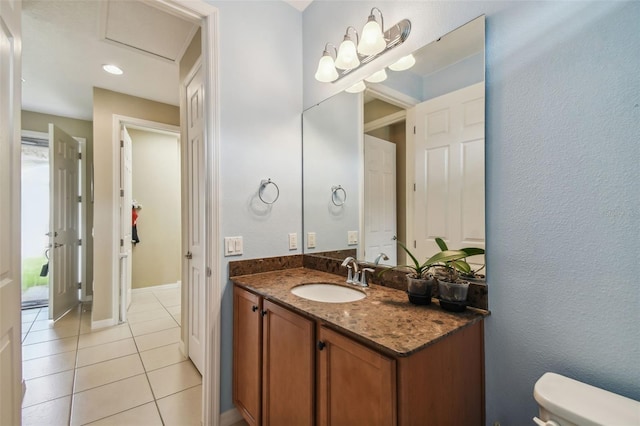
<path id="1" fill-rule="evenodd" d="M 202 411 L 202 386 L 195 386 L 158 400 L 165 426 L 199 426 Z"/>

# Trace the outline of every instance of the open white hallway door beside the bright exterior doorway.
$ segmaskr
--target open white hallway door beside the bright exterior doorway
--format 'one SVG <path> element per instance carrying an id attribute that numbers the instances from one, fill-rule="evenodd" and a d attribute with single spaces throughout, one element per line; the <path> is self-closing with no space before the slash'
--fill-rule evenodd
<path id="1" fill-rule="evenodd" d="M 49 124 L 49 318 L 78 304 L 78 141 Z"/>

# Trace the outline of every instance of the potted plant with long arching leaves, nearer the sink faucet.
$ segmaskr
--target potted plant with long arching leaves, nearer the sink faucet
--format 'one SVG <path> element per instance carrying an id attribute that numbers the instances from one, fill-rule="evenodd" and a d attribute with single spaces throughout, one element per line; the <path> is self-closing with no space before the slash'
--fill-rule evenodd
<path id="1" fill-rule="evenodd" d="M 381 271 L 383 274 L 392 269 L 409 269 L 407 274 L 407 294 L 409 301 L 416 305 L 428 305 L 431 303 L 432 288 L 438 284 L 437 280 L 431 273 L 431 269 L 438 265 L 446 265 L 446 262 L 462 259 L 468 255 L 462 250 L 443 250 L 427 259 L 424 263 L 420 263 L 418 259 L 411 253 L 397 237 L 393 237 L 396 243 L 409 255 L 412 261 L 411 265 L 398 265 L 386 268 Z"/>

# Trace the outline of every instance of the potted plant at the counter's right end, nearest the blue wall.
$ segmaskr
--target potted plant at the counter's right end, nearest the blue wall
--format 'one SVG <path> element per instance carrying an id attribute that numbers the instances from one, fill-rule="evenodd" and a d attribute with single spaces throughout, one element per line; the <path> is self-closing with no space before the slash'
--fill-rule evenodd
<path id="1" fill-rule="evenodd" d="M 436 238 L 436 244 L 442 250 L 441 253 L 451 251 L 442 238 Z M 466 258 L 484 254 L 484 249 L 465 247 L 454 251 L 462 252 L 464 256 L 446 260 L 439 265 L 434 265 L 434 268 L 438 280 L 440 306 L 451 311 L 462 311 L 466 308 L 469 278 L 474 278 L 477 273 L 471 269 Z"/>

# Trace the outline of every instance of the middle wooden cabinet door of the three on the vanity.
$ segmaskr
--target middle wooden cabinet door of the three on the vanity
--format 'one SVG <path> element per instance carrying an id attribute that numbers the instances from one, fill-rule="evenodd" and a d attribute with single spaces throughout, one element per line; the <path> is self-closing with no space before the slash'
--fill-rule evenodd
<path id="1" fill-rule="evenodd" d="M 266 425 L 313 425 L 314 323 L 269 301 L 263 327 L 262 419 Z"/>

